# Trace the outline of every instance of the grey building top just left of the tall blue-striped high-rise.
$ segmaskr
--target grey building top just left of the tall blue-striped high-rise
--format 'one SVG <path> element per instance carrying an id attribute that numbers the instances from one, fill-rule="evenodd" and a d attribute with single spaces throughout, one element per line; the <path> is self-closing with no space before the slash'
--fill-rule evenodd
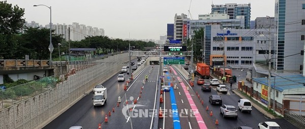
<path id="1" fill-rule="evenodd" d="M 271 23 L 271 25 L 270 25 Z M 255 28 L 276 28 L 277 22 L 275 17 L 257 17 L 255 18 Z"/>

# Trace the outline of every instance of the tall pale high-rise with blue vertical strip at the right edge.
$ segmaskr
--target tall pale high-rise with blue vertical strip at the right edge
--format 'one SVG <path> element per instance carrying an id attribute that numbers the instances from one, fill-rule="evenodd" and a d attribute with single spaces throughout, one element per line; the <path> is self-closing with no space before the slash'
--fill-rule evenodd
<path id="1" fill-rule="evenodd" d="M 305 41 L 305 1 L 276 0 L 276 70 L 301 71 Z"/>

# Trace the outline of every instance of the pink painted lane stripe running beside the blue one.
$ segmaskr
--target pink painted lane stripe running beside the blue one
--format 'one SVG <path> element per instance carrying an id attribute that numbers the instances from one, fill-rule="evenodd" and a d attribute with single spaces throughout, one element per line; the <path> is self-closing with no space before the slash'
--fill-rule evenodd
<path id="1" fill-rule="evenodd" d="M 176 72 L 174 72 L 174 73 L 175 73 L 175 75 L 177 75 Z M 177 79 L 179 80 L 180 77 L 177 77 Z M 190 95 L 189 90 L 187 90 L 186 85 L 185 85 L 183 82 L 180 82 L 180 85 L 182 86 L 182 88 L 183 88 L 183 90 L 184 90 L 184 92 L 185 92 L 185 94 L 186 94 L 186 96 L 187 96 L 187 99 L 188 99 L 188 101 L 189 101 L 189 103 L 190 103 L 190 106 L 191 106 L 192 110 L 195 111 L 195 112 L 197 112 L 197 113 L 194 113 L 194 114 L 195 114 L 197 123 L 198 123 L 198 125 L 199 125 L 199 128 L 207 129 L 207 127 L 206 127 L 206 125 L 205 125 L 205 123 L 204 123 L 204 121 L 203 121 L 203 119 L 202 119 L 202 117 L 201 117 L 201 115 L 200 115 L 200 113 L 199 113 L 199 111 L 198 111 L 198 108 L 197 108 L 197 106 L 195 105 L 195 103 L 194 103 L 194 101 L 193 101 L 193 99 L 192 99 L 192 96 Z"/>

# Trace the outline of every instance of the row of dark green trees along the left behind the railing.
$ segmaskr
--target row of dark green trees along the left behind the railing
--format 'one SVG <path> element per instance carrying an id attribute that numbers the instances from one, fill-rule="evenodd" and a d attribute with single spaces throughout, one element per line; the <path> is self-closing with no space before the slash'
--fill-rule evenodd
<path id="1" fill-rule="evenodd" d="M 25 55 L 29 55 L 31 59 L 49 59 L 50 29 L 25 27 L 24 9 L 17 5 L 12 6 L 2 1 L 0 7 L 0 59 L 24 59 Z M 81 41 L 70 41 L 70 48 L 95 48 L 97 54 L 106 54 L 128 50 L 129 43 L 139 50 L 156 46 L 153 42 L 88 36 Z M 53 30 L 52 45 L 54 47 L 52 57 L 58 57 L 59 50 L 69 52 L 69 42 L 63 39 L 62 35 L 54 34 Z"/>

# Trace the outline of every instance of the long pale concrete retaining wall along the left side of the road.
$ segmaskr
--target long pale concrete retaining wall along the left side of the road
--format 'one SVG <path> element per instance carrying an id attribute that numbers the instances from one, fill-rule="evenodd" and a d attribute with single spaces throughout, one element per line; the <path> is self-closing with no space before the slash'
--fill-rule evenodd
<path id="1" fill-rule="evenodd" d="M 0 111 L 0 128 L 44 127 L 92 91 L 95 85 L 117 74 L 128 59 L 128 53 L 124 53 L 97 60 L 98 64 L 77 71 L 55 88 Z"/>

